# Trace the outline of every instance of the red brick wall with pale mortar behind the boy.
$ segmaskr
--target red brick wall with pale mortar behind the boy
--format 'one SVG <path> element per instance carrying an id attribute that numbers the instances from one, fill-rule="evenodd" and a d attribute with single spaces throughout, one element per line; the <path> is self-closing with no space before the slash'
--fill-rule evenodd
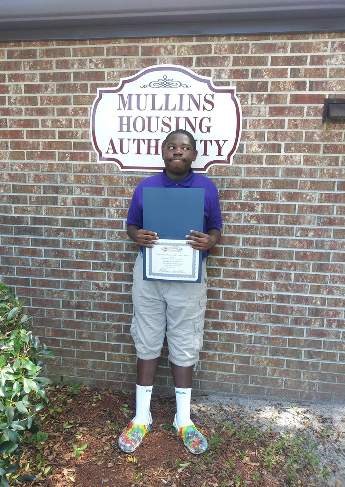
<path id="1" fill-rule="evenodd" d="M 135 382 L 124 222 L 143 175 L 96 162 L 90 110 L 97 86 L 162 63 L 235 84 L 244 115 L 234 165 L 209 172 L 224 234 L 194 387 L 344 401 L 345 126 L 322 125 L 324 98 L 344 96 L 344 34 L 0 44 L 0 273 L 56 353 L 50 375 Z"/>

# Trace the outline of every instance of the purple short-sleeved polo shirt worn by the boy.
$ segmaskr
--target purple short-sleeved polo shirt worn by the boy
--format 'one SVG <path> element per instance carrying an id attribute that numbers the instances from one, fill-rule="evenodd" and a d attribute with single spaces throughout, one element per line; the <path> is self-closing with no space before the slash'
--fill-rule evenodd
<path id="1" fill-rule="evenodd" d="M 126 225 L 136 225 L 143 228 L 143 187 L 192 187 L 205 189 L 205 205 L 204 205 L 204 226 L 203 233 L 208 230 L 216 228 L 220 230 L 222 227 L 222 218 L 219 205 L 218 190 L 213 181 L 206 176 L 196 174 L 193 169 L 190 169 L 190 174 L 182 179 L 182 181 L 173 181 L 165 174 L 165 168 L 160 174 L 151 176 L 141 181 L 134 190 L 132 202 L 128 210 L 128 217 Z M 155 231 L 154 228 L 146 228 L 146 230 Z M 202 258 L 209 254 L 209 250 L 202 252 Z"/>

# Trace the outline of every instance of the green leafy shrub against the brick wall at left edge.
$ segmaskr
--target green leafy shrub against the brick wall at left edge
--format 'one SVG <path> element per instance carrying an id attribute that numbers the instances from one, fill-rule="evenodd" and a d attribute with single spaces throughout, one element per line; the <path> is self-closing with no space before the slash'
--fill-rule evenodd
<path id="1" fill-rule="evenodd" d="M 31 316 L 22 313 L 23 304 L 0 284 L 0 486 L 17 486 L 16 475 L 23 443 L 40 429 L 36 413 L 49 402 L 45 395 L 51 380 L 41 377 L 46 358 L 53 352 L 29 330 Z M 35 480 L 32 474 L 17 480 Z"/>

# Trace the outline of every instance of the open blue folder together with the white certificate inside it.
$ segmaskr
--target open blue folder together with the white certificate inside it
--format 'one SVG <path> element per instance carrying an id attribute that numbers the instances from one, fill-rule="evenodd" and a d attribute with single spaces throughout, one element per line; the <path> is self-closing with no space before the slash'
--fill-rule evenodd
<path id="1" fill-rule="evenodd" d="M 143 279 L 201 282 L 202 252 L 185 239 L 203 231 L 204 198 L 203 188 L 143 188 L 143 228 L 159 237 L 143 248 Z"/>

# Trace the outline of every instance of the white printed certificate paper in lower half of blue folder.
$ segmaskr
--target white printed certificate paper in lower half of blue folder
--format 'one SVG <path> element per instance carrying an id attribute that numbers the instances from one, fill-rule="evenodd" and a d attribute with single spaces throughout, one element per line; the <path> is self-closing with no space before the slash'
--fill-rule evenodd
<path id="1" fill-rule="evenodd" d="M 199 250 L 185 240 L 160 239 L 145 250 L 145 279 L 200 282 Z"/>

